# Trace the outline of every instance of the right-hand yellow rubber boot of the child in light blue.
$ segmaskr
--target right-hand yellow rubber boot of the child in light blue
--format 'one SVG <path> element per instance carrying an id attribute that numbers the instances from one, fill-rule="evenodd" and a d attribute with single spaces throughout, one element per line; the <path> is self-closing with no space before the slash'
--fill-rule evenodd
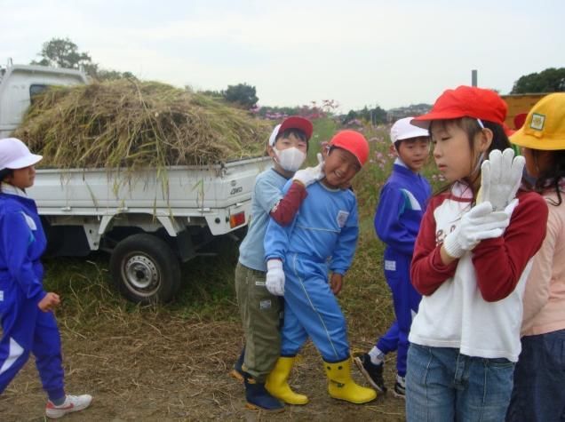
<path id="1" fill-rule="evenodd" d="M 323 362 L 328 376 L 328 393 L 334 399 L 356 404 L 370 402 L 377 398 L 377 392 L 355 384 L 351 378 L 351 358 L 337 363 Z"/>

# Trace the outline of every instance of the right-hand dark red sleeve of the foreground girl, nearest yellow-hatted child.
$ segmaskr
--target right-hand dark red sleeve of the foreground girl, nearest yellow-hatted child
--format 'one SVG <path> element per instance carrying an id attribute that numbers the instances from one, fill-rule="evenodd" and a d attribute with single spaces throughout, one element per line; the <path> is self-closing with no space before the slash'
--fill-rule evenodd
<path id="1" fill-rule="evenodd" d="M 541 247 L 547 224 L 547 205 L 535 193 L 517 195 L 505 234 L 481 241 L 473 249 L 473 266 L 482 299 L 505 299 L 516 287 L 524 268 Z"/>

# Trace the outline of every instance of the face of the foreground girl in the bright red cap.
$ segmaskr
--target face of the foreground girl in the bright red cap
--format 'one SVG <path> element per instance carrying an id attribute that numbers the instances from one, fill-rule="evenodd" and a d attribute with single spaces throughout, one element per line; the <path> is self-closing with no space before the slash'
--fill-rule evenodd
<path id="1" fill-rule="evenodd" d="M 471 176 L 473 163 L 481 154 L 477 139 L 473 139 L 472 149 L 466 131 L 452 122 L 432 123 L 430 134 L 435 164 L 445 179 L 454 182 Z"/>

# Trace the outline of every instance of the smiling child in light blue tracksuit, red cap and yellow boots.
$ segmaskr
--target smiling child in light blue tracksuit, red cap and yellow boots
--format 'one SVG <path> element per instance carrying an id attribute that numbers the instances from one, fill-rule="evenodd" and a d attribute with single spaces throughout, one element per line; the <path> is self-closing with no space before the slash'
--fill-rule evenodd
<path id="1" fill-rule="evenodd" d="M 283 227 L 273 219 L 269 222 L 266 283 L 268 291 L 284 295 L 281 355 L 294 359 L 306 338 L 312 338 L 322 354 L 330 396 L 370 402 L 376 392 L 356 385 L 351 378 L 346 320 L 335 297 L 354 257 L 359 232 L 355 195 L 342 187 L 361 170 L 369 145 L 359 132 L 340 131 L 329 147 L 324 179 L 307 187 L 308 195 L 292 224 Z M 288 376 L 269 383 L 269 392 L 284 402 L 305 397 L 293 393 L 287 380 Z"/>

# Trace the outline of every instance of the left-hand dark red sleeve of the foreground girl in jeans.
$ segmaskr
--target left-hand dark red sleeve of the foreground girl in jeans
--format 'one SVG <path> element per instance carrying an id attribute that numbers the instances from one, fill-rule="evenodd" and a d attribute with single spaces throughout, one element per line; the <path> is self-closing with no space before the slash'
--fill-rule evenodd
<path id="1" fill-rule="evenodd" d="M 458 259 L 448 265 L 442 262 L 442 239 L 438 239 L 439 235 L 435 233 L 434 219 L 434 210 L 441 202 L 441 196 L 434 196 L 427 206 L 414 244 L 410 266 L 410 278 L 414 288 L 426 296 L 434 293 L 442 283 L 453 277 L 458 265 Z"/>

